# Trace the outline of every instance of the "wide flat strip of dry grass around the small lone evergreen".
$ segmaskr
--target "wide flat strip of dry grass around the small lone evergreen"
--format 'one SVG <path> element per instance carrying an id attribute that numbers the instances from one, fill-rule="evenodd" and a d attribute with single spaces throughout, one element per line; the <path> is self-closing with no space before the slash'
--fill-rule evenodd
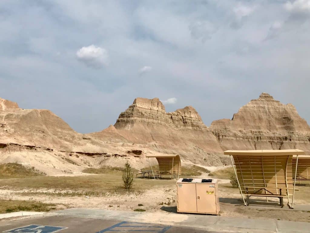
<path id="1" fill-rule="evenodd" d="M 131 191 L 143 192 L 144 190 L 149 190 L 156 186 L 160 187 L 172 184 L 175 184 L 175 180 L 148 180 L 135 178 Z M 0 188 L 3 188 L 3 186 L 15 190 L 55 190 L 50 193 L 51 195 L 65 190 L 77 191 L 75 193 L 76 195 L 80 195 L 81 193 L 91 194 L 92 192 L 95 195 L 101 195 L 106 192 L 117 194 L 127 193 L 127 190 L 123 186 L 121 171 L 109 171 L 108 174 L 89 176 L 37 176 L 19 179 L 2 179 L 0 180 Z M 75 194 L 72 192 L 68 195 L 73 196 Z M 66 194 L 63 195 L 65 196 Z"/>

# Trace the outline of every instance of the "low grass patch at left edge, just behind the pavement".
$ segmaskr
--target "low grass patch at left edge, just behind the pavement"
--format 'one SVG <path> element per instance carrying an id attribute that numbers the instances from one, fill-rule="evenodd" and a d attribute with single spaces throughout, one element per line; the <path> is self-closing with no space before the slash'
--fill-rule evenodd
<path id="1" fill-rule="evenodd" d="M 0 199 L 0 213 L 10 213 L 17 211 L 48 212 L 54 209 L 56 209 L 56 204 L 47 204 L 38 201 Z"/>

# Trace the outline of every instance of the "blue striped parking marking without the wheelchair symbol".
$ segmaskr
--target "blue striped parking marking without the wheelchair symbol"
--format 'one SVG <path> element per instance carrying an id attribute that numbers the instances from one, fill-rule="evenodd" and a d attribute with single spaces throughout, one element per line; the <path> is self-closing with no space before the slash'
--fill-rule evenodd
<path id="1" fill-rule="evenodd" d="M 160 226 L 144 222 L 120 222 L 96 233 L 103 232 L 139 232 L 139 233 L 164 233 L 171 226 Z"/>

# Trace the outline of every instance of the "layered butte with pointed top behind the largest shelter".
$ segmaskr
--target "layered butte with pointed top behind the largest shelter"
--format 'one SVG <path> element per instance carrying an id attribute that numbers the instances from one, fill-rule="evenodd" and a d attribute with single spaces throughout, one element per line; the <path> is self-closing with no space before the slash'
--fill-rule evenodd
<path id="1" fill-rule="evenodd" d="M 267 93 L 241 107 L 230 119 L 213 121 L 210 129 L 223 150 L 289 149 L 310 153 L 310 127 L 292 104 Z"/>

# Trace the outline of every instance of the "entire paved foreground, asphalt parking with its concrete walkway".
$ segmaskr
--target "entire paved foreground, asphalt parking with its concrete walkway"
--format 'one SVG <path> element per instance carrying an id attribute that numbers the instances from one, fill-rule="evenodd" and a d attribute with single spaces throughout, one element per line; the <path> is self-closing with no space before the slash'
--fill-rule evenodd
<path id="1" fill-rule="evenodd" d="M 0 221 L 0 232 L 6 233 L 305 233 L 309 229 L 308 222 L 79 208 Z"/>

